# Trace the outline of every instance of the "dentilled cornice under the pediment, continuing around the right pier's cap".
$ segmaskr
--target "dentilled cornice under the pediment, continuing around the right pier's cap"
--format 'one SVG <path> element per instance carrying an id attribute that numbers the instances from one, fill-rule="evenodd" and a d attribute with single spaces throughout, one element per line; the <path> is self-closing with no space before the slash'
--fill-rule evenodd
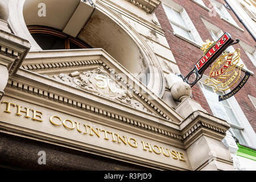
<path id="1" fill-rule="evenodd" d="M 204 113 L 203 111 L 193 112 L 183 122 L 176 124 L 179 127 L 168 126 L 164 123 L 160 124 L 162 122 L 155 125 L 156 123 L 153 124 L 154 122 L 151 122 L 149 118 L 143 121 L 142 115 L 141 118 L 137 117 L 136 119 L 136 117 L 133 117 L 133 114 L 130 113 L 130 117 L 126 117 L 125 115 L 120 114 L 118 110 L 105 110 L 102 109 L 102 106 L 98 107 L 90 102 L 84 102 L 72 97 L 66 97 L 63 94 L 54 93 L 52 90 L 49 90 L 49 88 L 46 90 L 39 86 L 31 86 L 13 79 L 9 80 L 6 92 L 9 94 L 13 92 L 18 93 L 18 95 L 23 98 L 35 97 L 38 100 L 42 100 L 44 103 L 56 102 L 56 104 L 61 104 L 65 107 L 73 107 L 74 109 L 79 109 L 86 113 L 97 115 L 98 117 L 109 118 L 116 121 L 117 124 L 125 124 L 139 130 L 146 130 L 157 135 L 162 135 L 164 138 L 176 141 L 175 143 L 180 146 L 183 146 L 184 144 L 185 148 L 188 148 L 202 135 L 222 140 L 230 127 L 229 124 L 222 119 Z M 31 96 L 28 96 L 27 94 L 31 94 Z"/>

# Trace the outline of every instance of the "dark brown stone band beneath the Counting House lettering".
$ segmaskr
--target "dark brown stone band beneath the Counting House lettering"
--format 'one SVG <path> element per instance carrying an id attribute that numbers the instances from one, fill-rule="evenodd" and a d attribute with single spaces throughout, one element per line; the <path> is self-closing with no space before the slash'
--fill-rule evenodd
<path id="1" fill-rule="evenodd" d="M 46 164 L 38 163 L 39 151 L 46 152 Z M 152 168 L 5 133 L 0 133 L 0 168 L 30 171 L 152 170 Z"/>

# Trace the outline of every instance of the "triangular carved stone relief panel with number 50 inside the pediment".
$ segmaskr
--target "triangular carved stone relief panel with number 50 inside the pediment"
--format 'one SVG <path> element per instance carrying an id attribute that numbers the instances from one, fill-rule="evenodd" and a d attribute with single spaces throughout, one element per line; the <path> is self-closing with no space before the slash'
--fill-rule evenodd
<path id="1" fill-rule="evenodd" d="M 53 75 L 52 77 L 60 82 L 84 89 L 97 96 L 105 97 L 135 109 L 151 113 L 141 104 L 141 102 L 133 99 L 133 95 L 129 90 L 123 88 L 123 86 L 114 80 L 114 78 L 110 78 L 108 72 L 106 72 L 103 67 L 81 73 L 78 71 L 70 74 L 60 73 L 59 75 Z"/>

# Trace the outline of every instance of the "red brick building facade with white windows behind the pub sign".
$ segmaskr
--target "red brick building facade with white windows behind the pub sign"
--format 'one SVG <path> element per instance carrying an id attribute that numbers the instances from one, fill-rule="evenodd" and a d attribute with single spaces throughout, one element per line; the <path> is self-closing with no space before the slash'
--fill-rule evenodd
<path id="1" fill-rule="evenodd" d="M 238 147 L 234 144 L 231 135 L 240 140 L 240 144 L 249 147 L 255 156 L 255 27 L 253 18 L 246 13 L 244 5 L 251 6 L 251 14 L 255 2 L 253 1 L 162 1 L 162 5 L 155 11 L 163 28 L 168 44 L 175 57 L 183 76 L 188 75 L 193 69 L 197 60 L 201 58 L 201 44 L 205 40 L 216 41 L 224 32 L 228 32 L 233 39 L 240 39 L 238 44 L 227 51 L 234 52 L 240 48 L 243 72 L 250 72 L 251 76 L 246 85 L 234 98 L 227 100 L 228 113 L 225 104 L 214 100 L 214 92 L 204 84 L 205 78 L 209 75 L 210 68 L 205 71 L 203 78 L 192 88 L 192 98 L 207 110 L 208 113 L 225 118 L 232 125 L 224 143 L 230 148 L 234 156 Z M 236 10 L 234 10 L 236 9 Z M 239 14 L 238 14 L 239 13 Z M 254 10 L 255 13 L 255 10 Z M 251 15 L 252 16 L 252 15 Z M 180 30 L 178 29 L 180 28 Z M 184 33 L 185 32 L 185 33 Z M 181 46 L 182 45 L 182 46 Z M 210 90 L 210 91 L 209 91 Z M 228 93 L 228 90 L 226 91 Z M 217 94 L 216 94 L 217 96 Z M 216 97 L 217 98 L 217 97 Z M 216 102 L 217 101 L 217 102 Z M 238 122 L 236 122 L 238 121 Z M 233 131 L 232 131 L 233 130 Z M 233 142 L 228 142 L 229 139 Z M 233 144 L 232 144 L 233 143 Z M 238 150 L 239 151 L 239 150 Z M 240 158 L 240 157 L 239 157 Z M 256 169 L 255 158 L 252 160 L 241 160 L 243 169 Z M 251 164 L 248 164 L 251 163 Z"/>

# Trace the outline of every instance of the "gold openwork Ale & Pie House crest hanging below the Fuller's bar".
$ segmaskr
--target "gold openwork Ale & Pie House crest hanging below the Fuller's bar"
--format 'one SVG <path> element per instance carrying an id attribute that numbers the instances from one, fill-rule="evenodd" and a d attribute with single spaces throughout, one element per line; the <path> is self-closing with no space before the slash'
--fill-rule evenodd
<path id="1" fill-rule="evenodd" d="M 236 49 L 233 53 L 225 52 L 213 64 L 209 78 L 205 80 L 205 84 L 214 86 L 215 92 L 230 89 L 241 76 L 243 64 L 239 64 L 240 57 L 240 49 Z"/>

